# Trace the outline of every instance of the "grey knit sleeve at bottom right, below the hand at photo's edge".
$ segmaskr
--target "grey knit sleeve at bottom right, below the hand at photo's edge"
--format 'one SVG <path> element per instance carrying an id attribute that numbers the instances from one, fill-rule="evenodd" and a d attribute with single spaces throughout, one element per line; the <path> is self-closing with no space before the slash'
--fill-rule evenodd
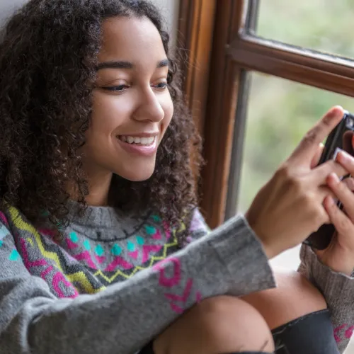
<path id="1" fill-rule="evenodd" d="M 334 336 L 343 353 L 354 329 L 354 278 L 336 273 L 321 263 L 309 246 L 302 245 L 300 258 L 298 271 L 324 295 L 331 312 Z"/>

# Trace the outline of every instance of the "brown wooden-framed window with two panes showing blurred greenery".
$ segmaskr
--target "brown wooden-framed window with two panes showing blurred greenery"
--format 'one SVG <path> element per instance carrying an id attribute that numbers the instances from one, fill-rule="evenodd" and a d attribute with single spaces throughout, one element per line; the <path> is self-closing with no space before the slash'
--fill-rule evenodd
<path id="1" fill-rule="evenodd" d="M 354 109 L 351 1 L 216 3 L 202 171 L 211 227 L 246 210 L 331 105 Z"/>

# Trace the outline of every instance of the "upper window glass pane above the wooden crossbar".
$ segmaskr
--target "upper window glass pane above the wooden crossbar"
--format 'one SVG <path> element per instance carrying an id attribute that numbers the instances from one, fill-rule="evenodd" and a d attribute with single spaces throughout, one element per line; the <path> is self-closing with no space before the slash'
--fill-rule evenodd
<path id="1" fill-rule="evenodd" d="M 354 57 L 351 0 L 261 0 L 257 34 L 263 38 Z"/>

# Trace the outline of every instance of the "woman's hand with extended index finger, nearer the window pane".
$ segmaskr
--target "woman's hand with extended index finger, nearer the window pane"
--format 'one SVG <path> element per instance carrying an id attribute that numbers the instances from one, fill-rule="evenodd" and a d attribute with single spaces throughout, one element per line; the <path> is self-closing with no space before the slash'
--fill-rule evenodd
<path id="1" fill-rule="evenodd" d="M 333 193 L 326 180 L 331 173 L 344 176 L 348 170 L 336 161 L 315 168 L 312 165 L 319 154 L 319 144 L 342 117 L 343 108 L 329 110 L 264 185 L 246 212 L 246 219 L 263 243 L 268 258 L 300 244 L 329 222 L 324 199 Z"/>

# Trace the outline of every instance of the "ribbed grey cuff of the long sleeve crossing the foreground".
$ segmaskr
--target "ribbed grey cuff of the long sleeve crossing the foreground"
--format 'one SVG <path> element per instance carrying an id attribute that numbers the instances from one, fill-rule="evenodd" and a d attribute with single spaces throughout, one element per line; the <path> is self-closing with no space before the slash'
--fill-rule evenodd
<path id="1" fill-rule="evenodd" d="M 209 239 L 220 261 L 227 267 L 229 274 L 243 275 L 237 288 L 246 289 L 242 295 L 276 287 L 273 270 L 261 241 L 242 215 L 233 217 L 220 226 L 218 232 Z M 231 278 L 233 279 L 233 278 Z M 234 278 L 234 280 L 236 280 Z M 240 296 L 236 291 L 230 294 Z"/>

